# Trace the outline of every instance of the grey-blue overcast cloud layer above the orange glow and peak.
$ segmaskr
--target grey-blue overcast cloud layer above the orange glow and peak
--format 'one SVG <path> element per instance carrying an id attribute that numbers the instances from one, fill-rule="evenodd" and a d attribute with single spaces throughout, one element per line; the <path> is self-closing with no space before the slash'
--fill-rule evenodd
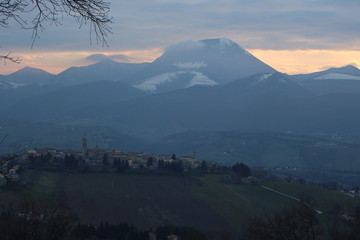
<path id="1" fill-rule="evenodd" d="M 359 0 L 111 0 L 114 34 L 105 51 L 165 48 L 227 37 L 248 49 L 360 49 Z M 4 49 L 26 49 L 31 32 L 1 29 Z M 34 51 L 101 51 L 88 26 L 65 18 L 48 26 Z"/>

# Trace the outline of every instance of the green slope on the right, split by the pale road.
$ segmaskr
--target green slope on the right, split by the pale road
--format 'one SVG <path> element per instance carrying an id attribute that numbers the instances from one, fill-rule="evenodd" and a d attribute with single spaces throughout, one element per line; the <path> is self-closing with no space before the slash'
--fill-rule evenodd
<path id="1" fill-rule="evenodd" d="M 295 200 L 260 186 L 225 184 L 214 175 L 201 179 L 205 186 L 191 187 L 191 190 L 238 229 L 254 214 L 266 214 L 297 204 Z M 311 206 L 325 212 L 336 204 L 345 211 L 352 212 L 354 207 L 360 204 L 360 199 L 318 186 L 278 182 L 267 182 L 264 185 L 296 198 L 309 199 Z"/>

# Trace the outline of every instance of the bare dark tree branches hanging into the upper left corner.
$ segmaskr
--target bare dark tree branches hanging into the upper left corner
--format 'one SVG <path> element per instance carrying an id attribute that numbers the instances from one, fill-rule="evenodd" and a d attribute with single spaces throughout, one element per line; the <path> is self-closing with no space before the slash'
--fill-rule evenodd
<path id="1" fill-rule="evenodd" d="M 92 33 L 96 44 L 108 46 L 107 37 L 112 33 L 111 17 L 109 17 L 110 2 L 105 0 L 0 0 L 0 27 L 8 27 L 15 21 L 22 29 L 32 30 L 34 46 L 40 32 L 45 30 L 45 23 L 61 25 L 61 19 L 69 16 L 79 22 L 79 27 L 89 23 L 90 44 Z M 30 21 L 27 21 L 27 16 Z M 0 54 L 4 61 L 19 63 L 19 58 L 8 54 Z"/>

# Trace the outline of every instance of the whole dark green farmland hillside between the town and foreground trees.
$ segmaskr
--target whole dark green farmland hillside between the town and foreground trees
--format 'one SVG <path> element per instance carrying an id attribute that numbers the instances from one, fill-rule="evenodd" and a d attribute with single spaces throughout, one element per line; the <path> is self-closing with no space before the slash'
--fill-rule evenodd
<path id="1" fill-rule="evenodd" d="M 229 184 L 221 175 L 170 176 L 118 173 L 71 173 L 26 170 L 21 191 L 0 190 L 0 202 L 24 197 L 64 204 L 83 222 L 129 222 L 140 228 L 191 226 L 219 233 L 242 229 L 247 219 L 297 201 L 261 186 Z M 342 193 L 316 186 L 266 182 L 293 197 L 311 199 L 326 211 L 335 204 L 351 210 L 360 203 Z"/>

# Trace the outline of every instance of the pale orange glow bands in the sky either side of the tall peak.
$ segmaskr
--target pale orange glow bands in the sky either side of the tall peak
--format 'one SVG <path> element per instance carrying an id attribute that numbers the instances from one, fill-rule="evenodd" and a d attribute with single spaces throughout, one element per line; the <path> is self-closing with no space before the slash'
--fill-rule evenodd
<path id="1" fill-rule="evenodd" d="M 248 49 L 255 57 L 276 70 L 287 74 L 311 73 L 330 67 L 342 67 L 352 64 L 360 67 L 360 51 L 341 50 L 262 50 Z M 25 66 L 40 68 L 58 74 L 72 66 L 93 64 L 86 59 L 99 52 L 19 52 L 14 53 L 22 59 L 20 64 L 6 62 L 0 65 L 0 74 L 6 75 Z M 101 52 L 104 55 L 124 54 L 129 62 L 152 62 L 163 53 L 162 49 L 129 50 L 123 52 Z"/>

